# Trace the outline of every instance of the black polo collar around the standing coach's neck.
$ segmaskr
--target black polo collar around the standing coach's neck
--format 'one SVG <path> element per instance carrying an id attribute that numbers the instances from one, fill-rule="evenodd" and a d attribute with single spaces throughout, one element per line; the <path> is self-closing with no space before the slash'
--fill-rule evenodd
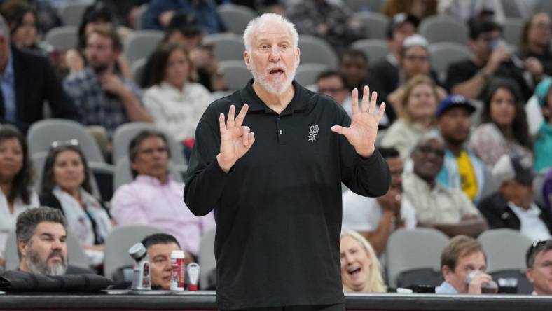
<path id="1" fill-rule="evenodd" d="M 253 82 L 254 78 L 251 78 L 249 80 L 249 83 L 245 86 L 243 90 L 240 91 L 240 95 L 242 99 L 244 99 L 244 102 L 249 105 L 249 111 L 265 111 L 265 113 L 275 113 L 272 109 L 270 109 L 262 100 L 260 97 L 258 97 L 257 93 L 253 89 Z M 294 97 L 291 99 L 291 102 L 287 105 L 286 109 L 280 113 L 280 116 L 284 116 L 287 114 L 292 114 L 295 111 L 302 111 L 307 108 L 308 105 L 308 96 L 307 96 L 307 90 L 303 88 L 303 86 L 299 85 L 295 80 L 292 82 L 292 85 L 294 86 Z"/>

